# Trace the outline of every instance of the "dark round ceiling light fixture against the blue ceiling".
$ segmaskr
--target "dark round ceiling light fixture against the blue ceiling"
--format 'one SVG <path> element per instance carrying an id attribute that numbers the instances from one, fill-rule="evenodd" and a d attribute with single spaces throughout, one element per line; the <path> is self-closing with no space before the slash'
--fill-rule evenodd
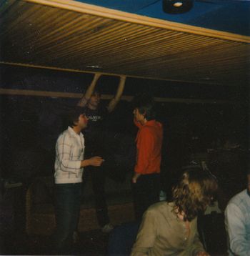
<path id="1" fill-rule="evenodd" d="M 162 0 L 162 9 L 167 14 L 184 14 L 193 7 L 194 0 Z"/>

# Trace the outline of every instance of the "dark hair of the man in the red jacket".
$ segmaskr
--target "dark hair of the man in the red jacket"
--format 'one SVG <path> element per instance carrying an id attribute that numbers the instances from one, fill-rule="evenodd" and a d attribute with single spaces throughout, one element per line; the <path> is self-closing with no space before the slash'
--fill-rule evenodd
<path id="1" fill-rule="evenodd" d="M 134 109 L 138 109 L 140 114 L 144 114 L 147 121 L 156 119 L 156 109 L 154 99 L 149 94 L 141 94 L 133 99 Z"/>

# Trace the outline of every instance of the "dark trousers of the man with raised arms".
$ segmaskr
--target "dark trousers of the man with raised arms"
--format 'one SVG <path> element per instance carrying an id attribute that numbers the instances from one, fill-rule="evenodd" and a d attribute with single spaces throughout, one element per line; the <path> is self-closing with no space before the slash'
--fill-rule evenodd
<path id="1" fill-rule="evenodd" d="M 106 205 L 105 178 L 106 174 L 103 167 L 89 166 L 84 170 L 84 180 L 91 176 L 92 189 L 96 207 L 96 217 L 100 227 L 109 223 L 108 207 Z"/>

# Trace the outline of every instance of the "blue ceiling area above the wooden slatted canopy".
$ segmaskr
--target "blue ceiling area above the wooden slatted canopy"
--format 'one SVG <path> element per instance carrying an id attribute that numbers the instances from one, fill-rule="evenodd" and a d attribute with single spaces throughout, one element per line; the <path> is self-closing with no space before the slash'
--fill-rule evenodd
<path id="1" fill-rule="evenodd" d="M 79 0 L 132 14 L 250 36 L 250 0 L 196 0 L 185 14 L 166 14 L 161 0 Z"/>

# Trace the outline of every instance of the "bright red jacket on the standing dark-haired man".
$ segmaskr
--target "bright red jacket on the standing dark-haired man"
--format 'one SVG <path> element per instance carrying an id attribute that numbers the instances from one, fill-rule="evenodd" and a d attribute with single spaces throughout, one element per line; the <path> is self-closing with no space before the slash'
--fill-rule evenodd
<path id="1" fill-rule="evenodd" d="M 159 173 L 161 171 L 161 144 L 163 128 L 160 122 L 150 120 L 142 125 L 134 122 L 139 131 L 136 137 L 136 166 L 134 172 L 140 174 Z"/>

